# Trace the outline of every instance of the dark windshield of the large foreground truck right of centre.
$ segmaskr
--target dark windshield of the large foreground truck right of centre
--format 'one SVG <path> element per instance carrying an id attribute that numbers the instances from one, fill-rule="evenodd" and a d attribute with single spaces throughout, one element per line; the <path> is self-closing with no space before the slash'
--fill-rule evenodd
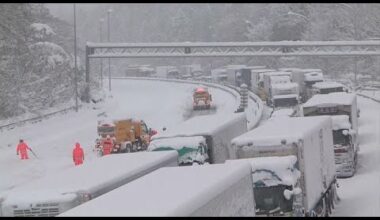
<path id="1" fill-rule="evenodd" d="M 255 187 L 254 196 L 256 202 L 256 214 L 267 215 L 278 212 L 291 212 L 293 208 L 293 197 L 287 200 L 284 190 L 291 190 L 291 186 L 277 185 L 270 187 Z"/>

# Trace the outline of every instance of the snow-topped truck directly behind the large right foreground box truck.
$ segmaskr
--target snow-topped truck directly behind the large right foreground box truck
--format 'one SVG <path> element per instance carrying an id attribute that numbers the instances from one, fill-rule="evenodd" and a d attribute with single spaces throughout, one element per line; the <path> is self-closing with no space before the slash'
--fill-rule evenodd
<path id="1" fill-rule="evenodd" d="M 303 114 L 304 116 L 334 116 L 333 138 L 337 175 L 338 177 L 353 176 L 359 151 L 356 94 L 336 92 L 314 95 L 303 105 Z M 344 117 L 336 117 L 339 115 L 348 116 L 348 121 Z"/>

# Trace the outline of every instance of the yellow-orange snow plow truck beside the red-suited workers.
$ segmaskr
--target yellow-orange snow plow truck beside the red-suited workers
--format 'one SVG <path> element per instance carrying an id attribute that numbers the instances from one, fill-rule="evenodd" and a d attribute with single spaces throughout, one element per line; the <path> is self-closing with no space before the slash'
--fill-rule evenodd
<path id="1" fill-rule="evenodd" d="M 157 131 L 148 128 L 142 120 L 121 119 L 112 122 L 98 121 L 96 149 L 102 153 L 101 144 L 107 136 L 113 140 L 111 153 L 127 153 L 146 150 Z"/>

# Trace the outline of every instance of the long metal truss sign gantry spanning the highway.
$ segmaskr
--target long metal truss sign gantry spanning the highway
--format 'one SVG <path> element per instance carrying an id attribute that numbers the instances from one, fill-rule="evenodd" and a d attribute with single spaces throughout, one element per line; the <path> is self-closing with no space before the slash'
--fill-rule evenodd
<path id="1" fill-rule="evenodd" d="M 86 82 L 90 58 L 379 56 L 380 41 L 276 41 L 86 44 Z M 88 83 L 87 83 L 88 85 Z M 86 88 L 89 101 L 89 88 Z"/>

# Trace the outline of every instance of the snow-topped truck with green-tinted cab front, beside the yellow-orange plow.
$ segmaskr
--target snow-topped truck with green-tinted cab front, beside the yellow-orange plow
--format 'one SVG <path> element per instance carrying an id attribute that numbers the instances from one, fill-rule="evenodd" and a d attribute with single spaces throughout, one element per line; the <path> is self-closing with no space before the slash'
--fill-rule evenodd
<path id="1" fill-rule="evenodd" d="M 224 163 L 230 158 L 230 144 L 234 137 L 247 132 L 245 112 L 230 118 L 202 115 L 191 118 L 172 132 L 152 138 L 148 151 L 176 150 L 179 165 Z"/>

